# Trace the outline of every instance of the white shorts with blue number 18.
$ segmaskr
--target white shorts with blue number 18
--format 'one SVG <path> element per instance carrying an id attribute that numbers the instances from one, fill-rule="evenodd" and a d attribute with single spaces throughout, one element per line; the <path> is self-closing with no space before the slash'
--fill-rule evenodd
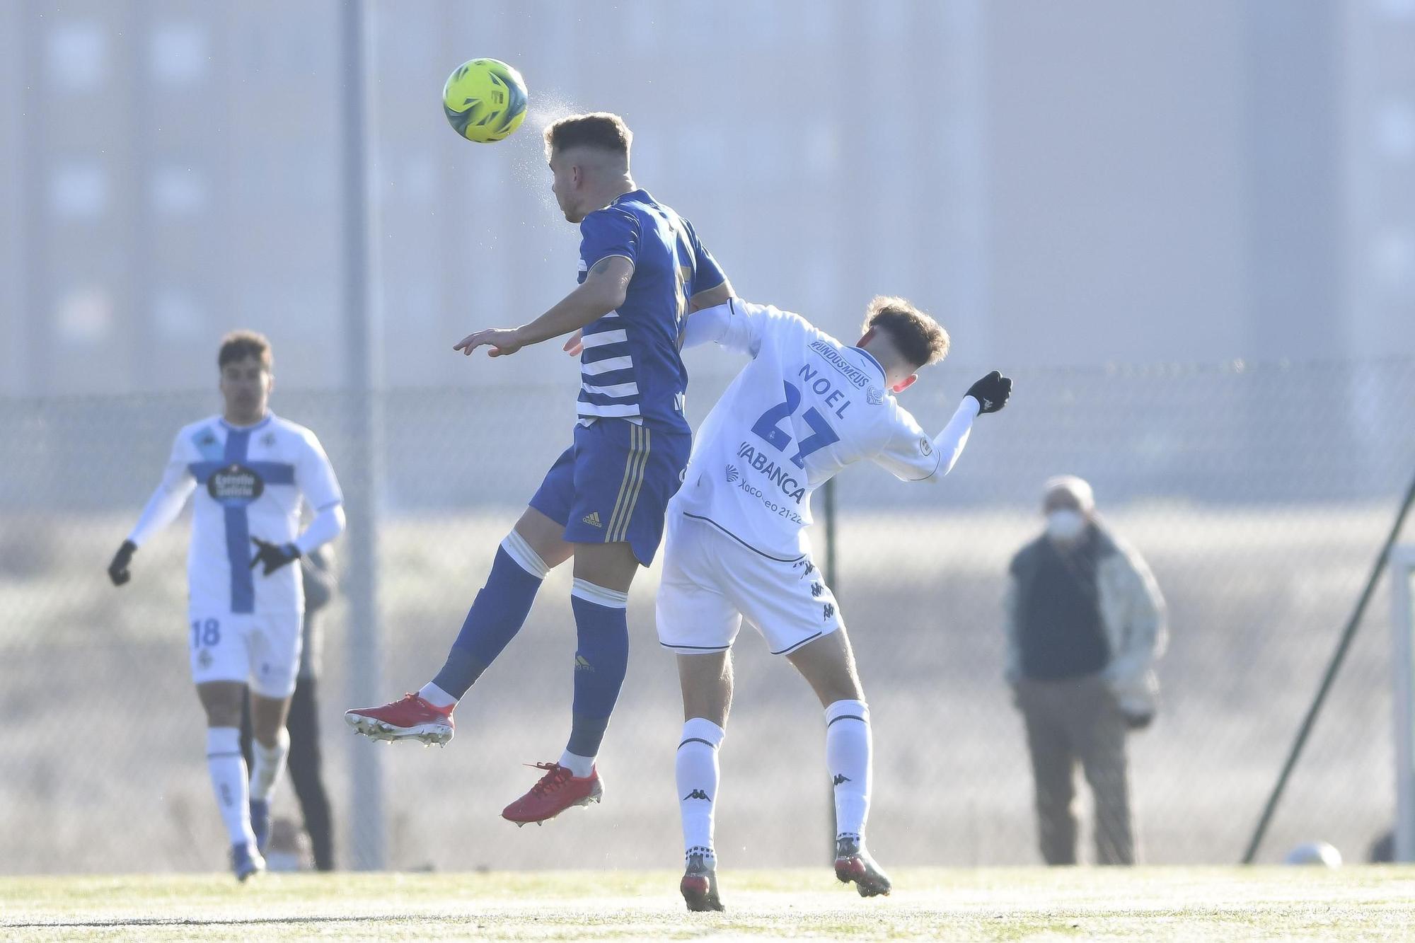
<path id="1" fill-rule="evenodd" d="M 238 681 L 263 698 L 294 694 L 300 671 L 300 613 L 209 615 L 192 610 L 187 617 L 191 677 Z"/>

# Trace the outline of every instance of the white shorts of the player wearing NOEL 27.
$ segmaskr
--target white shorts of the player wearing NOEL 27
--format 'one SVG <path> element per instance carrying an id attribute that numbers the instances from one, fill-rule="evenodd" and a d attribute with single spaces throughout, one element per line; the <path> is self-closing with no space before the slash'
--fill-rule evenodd
<path id="1" fill-rule="evenodd" d="M 771 654 L 795 651 L 841 627 L 835 593 L 809 556 L 782 561 L 709 521 L 668 514 L 658 643 L 678 654 L 726 651 L 743 616 Z"/>

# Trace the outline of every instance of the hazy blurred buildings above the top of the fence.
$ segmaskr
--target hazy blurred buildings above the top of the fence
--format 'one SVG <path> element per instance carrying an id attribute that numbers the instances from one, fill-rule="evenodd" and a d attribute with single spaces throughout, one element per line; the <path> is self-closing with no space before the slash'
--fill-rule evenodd
<path id="1" fill-rule="evenodd" d="M 6 391 L 201 387 L 233 324 L 286 387 L 341 382 L 335 21 L 0 6 Z M 886 292 L 976 362 L 1415 353 L 1412 35 L 1411 0 L 379 4 L 388 382 L 488 379 L 447 347 L 558 297 L 536 125 L 569 109 L 621 112 L 739 290 L 833 330 Z M 468 146 L 437 95 L 490 54 L 532 113 Z"/>

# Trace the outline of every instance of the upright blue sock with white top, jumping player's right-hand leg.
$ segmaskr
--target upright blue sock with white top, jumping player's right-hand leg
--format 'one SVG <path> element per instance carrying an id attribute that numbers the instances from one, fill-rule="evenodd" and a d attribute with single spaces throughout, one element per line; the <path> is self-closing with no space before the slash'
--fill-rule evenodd
<path id="1" fill-rule="evenodd" d="M 574 581 L 574 718 L 567 753 L 593 758 L 610 725 L 610 714 L 628 667 L 628 593 Z"/>

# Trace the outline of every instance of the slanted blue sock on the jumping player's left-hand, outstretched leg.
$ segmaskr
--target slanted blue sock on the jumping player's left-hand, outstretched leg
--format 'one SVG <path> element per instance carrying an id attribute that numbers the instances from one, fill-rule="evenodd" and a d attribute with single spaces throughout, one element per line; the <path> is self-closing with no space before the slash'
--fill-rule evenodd
<path id="1" fill-rule="evenodd" d="M 533 572 L 536 569 L 539 575 Z M 433 684 L 458 699 L 467 694 L 467 688 L 521 631 L 546 572 L 535 551 L 512 531 L 497 548 L 487 585 L 471 603 L 461 631 L 447 653 L 447 663 Z"/>

